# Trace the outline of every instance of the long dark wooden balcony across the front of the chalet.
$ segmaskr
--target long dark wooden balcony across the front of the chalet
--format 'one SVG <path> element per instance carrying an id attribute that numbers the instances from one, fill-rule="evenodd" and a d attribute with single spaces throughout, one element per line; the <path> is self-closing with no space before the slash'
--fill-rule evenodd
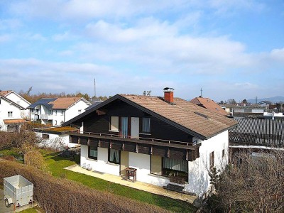
<path id="1" fill-rule="evenodd" d="M 201 145 L 193 145 L 192 142 L 168 141 L 155 138 L 124 138 L 119 135 L 106 133 L 72 132 L 69 134 L 70 143 L 114 148 L 119 151 L 158 155 L 166 158 L 189 161 L 199 157 L 199 148 Z"/>

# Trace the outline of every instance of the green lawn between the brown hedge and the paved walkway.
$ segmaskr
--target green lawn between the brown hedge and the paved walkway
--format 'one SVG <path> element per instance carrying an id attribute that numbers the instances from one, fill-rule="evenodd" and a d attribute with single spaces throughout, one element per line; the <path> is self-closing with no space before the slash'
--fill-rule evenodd
<path id="1" fill-rule="evenodd" d="M 160 195 L 155 195 L 150 192 L 144 192 L 141 190 L 136 190 L 131 187 L 126 187 L 124 185 L 119 185 L 113 182 L 108 182 L 99 178 L 94 178 L 92 176 L 84 175 L 81 173 L 75 173 L 70 170 L 65 170 L 64 168 L 75 163 L 80 162 L 80 156 L 76 156 L 75 160 L 61 158 L 58 153 L 51 151 L 43 151 L 48 169 L 53 176 L 58 178 L 67 178 L 69 180 L 75 180 L 81 182 L 83 185 L 92 187 L 96 190 L 112 192 L 116 195 L 123 197 L 129 197 L 133 200 L 138 200 L 140 202 L 146 202 L 148 204 L 154 204 L 164 209 L 168 209 L 173 212 L 196 212 L 197 208 L 192 204 L 183 202 L 181 200 L 173 200 L 169 197 L 163 197 Z M 3 151 L 0 151 L 3 153 Z M 6 151 L 9 155 L 13 155 L 13 151 Z"/>

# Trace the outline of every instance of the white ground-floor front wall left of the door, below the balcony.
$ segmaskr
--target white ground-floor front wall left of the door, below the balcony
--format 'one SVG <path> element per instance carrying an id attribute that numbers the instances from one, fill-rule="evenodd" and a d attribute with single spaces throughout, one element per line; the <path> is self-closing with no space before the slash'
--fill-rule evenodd
<path id="1" fill-rule="evenodd" d="M 88 158 L 88 146 L 81 145 L 81 166 L 90 165 L 92 170 L 100 173 L 108 173 L 111 175 L 119 176 L 119 164 L 108 163 L 109 151 L 107 148 L 98 147 L 97 160 Z"/>

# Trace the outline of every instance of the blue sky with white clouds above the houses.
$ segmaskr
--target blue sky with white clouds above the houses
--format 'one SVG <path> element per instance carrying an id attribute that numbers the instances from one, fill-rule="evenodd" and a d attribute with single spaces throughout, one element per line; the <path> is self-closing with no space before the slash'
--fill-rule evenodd
<path id="1" fill-rule="evenodd" d="M 0 89 L 283 95 L 284 1 L 0 0 Z"/>

